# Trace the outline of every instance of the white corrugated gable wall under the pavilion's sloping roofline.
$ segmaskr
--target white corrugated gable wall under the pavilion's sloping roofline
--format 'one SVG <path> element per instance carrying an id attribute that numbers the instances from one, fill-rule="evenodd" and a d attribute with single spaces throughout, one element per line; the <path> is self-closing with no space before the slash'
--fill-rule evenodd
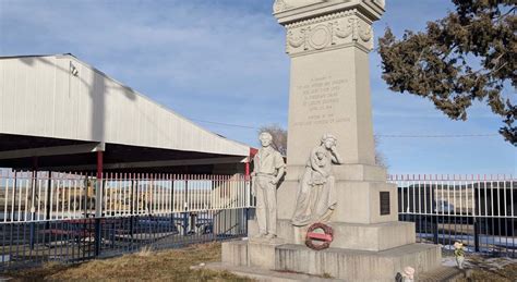
<path id="1" fill-rule="evenodd" d="M 71 56 L 0 59 L 0 133 L 249 152 L 248 146 L 203 130 Z"/>

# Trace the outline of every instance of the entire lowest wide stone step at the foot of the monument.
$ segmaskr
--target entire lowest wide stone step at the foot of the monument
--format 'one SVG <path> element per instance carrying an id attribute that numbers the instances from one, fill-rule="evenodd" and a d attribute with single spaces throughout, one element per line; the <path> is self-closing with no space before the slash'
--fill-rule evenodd
<path id="1" fill-rule="evenodd" d="M 441 259 L 440 246 L 426 244 L 370 252 L 335 247 L 313 250 L 298 244 L 233 241 L 223 243 L 223 263 L 217 268 L 231 271 L 238 267 L 240 274 L 245 272 L 242 270 L 262 269 L 345 281 L 394 281 L 397 272 L 408 266 L 416 269 L 418 278 L 419 273 L 437 268 Z M 281 281 L 274 277 L 261 280 Z"/>

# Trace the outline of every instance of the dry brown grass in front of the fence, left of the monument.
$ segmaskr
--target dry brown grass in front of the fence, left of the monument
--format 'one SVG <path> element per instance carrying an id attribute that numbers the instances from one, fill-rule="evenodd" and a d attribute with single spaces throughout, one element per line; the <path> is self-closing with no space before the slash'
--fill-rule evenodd
<path id="1" fill-rule="evenodd" d="M 14 281 L 250 281 L 229 272 L 191 270 L 191 266 L 220 260 L 220 244 L 139 253 L 93 260 L 79 266 L 47 265 L 14 274 Z"/>

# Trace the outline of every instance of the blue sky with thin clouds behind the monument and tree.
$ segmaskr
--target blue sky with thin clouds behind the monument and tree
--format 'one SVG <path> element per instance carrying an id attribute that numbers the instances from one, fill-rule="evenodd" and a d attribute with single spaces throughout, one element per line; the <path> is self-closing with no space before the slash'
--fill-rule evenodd
<path id="1" fill-rule="evenodd" d="M 448 0 L 387 0 L 374 29 L 419 30 Z M 289 59 L 273 0 L 0 0 L 0 56 L 71 52 L 200 125 L 258 146 L 256 130 L 287 126 Z M 482 103 L 467 122 L 428 100 L 387 89 L 371 54 L 375 134 L 496 134 Z M 515 89 L 506 89 L 512 93 Z M 239 124 L 249 127 L 214 123 Z M 380 137 L 390 173 L 517 173 L 517 151 L 500 136 Z"/>

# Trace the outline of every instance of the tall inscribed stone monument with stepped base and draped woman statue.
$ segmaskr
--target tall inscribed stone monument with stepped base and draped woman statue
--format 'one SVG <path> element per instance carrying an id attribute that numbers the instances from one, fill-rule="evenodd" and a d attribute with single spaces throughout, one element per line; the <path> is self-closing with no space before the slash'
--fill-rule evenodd
<path id="1" fill-rule="evenodd" d="M 416 244 L 414 224 L 398 221 L 397 187 L 375 164 L 369 52 L 384 8 L 383 0 L 275 1 L 291 58 L 278 237 L 253 240 L 258 228 L 250 221 L 251 240 L 224 243 L 221 266 L 346 281 L 394 281 L 407 267 L 418 278 L 440 266 L 440 246 Z M 313 222 L 332 226 L 329 248 L 304 245 Z"/>

